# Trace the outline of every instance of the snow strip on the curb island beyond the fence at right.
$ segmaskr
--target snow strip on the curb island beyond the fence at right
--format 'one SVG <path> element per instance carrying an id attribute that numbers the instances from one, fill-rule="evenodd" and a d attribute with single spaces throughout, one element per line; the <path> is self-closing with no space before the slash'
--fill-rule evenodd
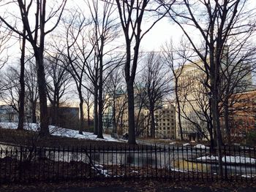
<path id="1" fill-rule="evenodd" d="M 218 161 L 217 156 L 202 156 L 197 158 L 197 160 L 200 161 Z M 222 162 L 226 162 L 227 164 L 255 164 L 256 159 L 255 158 L 245 158 L 242 156 L 224 156 L 222 157 Z"/>

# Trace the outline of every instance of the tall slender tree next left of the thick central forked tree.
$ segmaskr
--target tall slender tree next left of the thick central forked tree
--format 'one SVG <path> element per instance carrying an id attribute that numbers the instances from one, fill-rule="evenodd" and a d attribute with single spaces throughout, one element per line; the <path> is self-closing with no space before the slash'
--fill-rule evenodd
<path id="1" fill-rule="evenodd" d="M 114 48 L 105 48 L 106 45 L 109 45 L 110 42 L 113 42 L 113 39 L 118 37 L 118 23 L 116 22 L 117 18 L 115 16 L 115 7 L 113 6 L 113 1 L 92 1 L 89 4 L 89 9 L 91 12 L 92 23 L 94 27 L 94 33 L 91 37 L 92 43 L 94 45 L 94 56 L 96 57 L 95 61 L 97 62 L 98 72 L 97 72 L 97 85 L 94 88 L 94 100 L 98 99 L 98 106 L 95 106 L 94 109 L 97 109 L 97 114 L 94 114 L 94 128 L 97 128 L 97 131 L 94 130 L 94 134 L 97 133 L 98 138 L 103 138 L 102 131 L 102 115 L 103 115 L 103 72 L 106 65 L 113 64 L 112 58 L 107 58 L 110 55 L 111 51 Z M 106 61 L 107 60 L 107 61 Z M 108 61 L 112 60 L 112 61 Z M 97 96 L 98 95 L 98 96 Z M 97 101 L 95 101 L 97 104 Z M 96 113 L 96 111 L 94 111 Z"/>

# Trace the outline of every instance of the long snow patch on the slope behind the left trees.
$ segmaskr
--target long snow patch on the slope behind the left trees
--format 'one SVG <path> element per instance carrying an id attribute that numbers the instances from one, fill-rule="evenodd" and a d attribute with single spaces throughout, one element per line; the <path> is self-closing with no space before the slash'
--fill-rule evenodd
<path id="1" fill-rule="evenodd" d="M 17 128 L 18 123 L 0 123 L 1 128 Z M 26 123 L 24 125 L 26 130 L 30 131 L 38 131 L 39 125 L 37 123 Z M 60 128 L 57 126 L 49 126 L 50 134 L 59 137 L 71 137 L 77 139 L 90 139 L 90 140 L 97 140 L 97 141 L 109 141 L 109 142 L 120 142 L 117 139 L 114 139 L 110 136 L 110 134 L 103 134 L 104 139 L 97 139 L 97 135 L 93 133 L 83 131 L 83 135 L 79 134 L 78 131 L 72 130 L 69 128 Z"/>

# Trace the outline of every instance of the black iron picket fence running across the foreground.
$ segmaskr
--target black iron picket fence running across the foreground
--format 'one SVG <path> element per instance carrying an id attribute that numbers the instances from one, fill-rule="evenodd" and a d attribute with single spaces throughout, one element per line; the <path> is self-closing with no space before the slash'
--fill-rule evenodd
<path id="1" fill-rule="evenodd" d="M 222 147 L 221 154 L 219 165 L 216 149 L 208 147 L 1 145 L 0 183 L 94 178 L 255 181 L 255 147 Z"/>

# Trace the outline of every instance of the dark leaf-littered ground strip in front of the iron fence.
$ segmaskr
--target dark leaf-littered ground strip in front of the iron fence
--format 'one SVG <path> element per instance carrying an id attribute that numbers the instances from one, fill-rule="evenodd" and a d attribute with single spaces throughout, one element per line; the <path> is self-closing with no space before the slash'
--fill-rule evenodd
<path id="1" fill-rule="evenodd" d="M 45 191 L 61 191 L 61 192 L 107 192 L 107 191 L 256 191 L 255 183 L 189 183 L 189 182 L 173 182 L 167 180 L 127 180 L 127 181 L 86 181 L 86 182 L 65 182 L 65 183 L 37 183 L 33 185 L 3 185 L 1 192 L 45 192 Z"/>

